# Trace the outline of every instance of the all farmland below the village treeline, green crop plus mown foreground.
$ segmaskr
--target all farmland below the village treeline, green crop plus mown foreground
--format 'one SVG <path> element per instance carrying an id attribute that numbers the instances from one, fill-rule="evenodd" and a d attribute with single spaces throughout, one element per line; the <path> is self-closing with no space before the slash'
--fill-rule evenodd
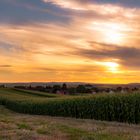
<path id="1" fill-rule="evenodd" d="M 115 99 L 116 102 L 123 99 L 123 104 L 119 102 L 122 107 L 119 108 L 119 113 L 124 114 L 119 115 L 116 112 L 113 115 L 114 118 L 111 114 L 110 117 L 107 116 L 109 113 L 106 112 L 113 113 L 114 110 L 114 107 L 112 110 L 105 108 L 112 99 Z M 87 95 L 86 97 L 1 88 L 0 140 L 139 140 L 140 126 L 132 124 L 138 123 L 139 120 L 139 116 L 135 116 L 137 108 L 134 108 L 137 101 L 139 101 L 138 93 L 132 95 Z M 112 100 L 113 104 L 116 102 Z M 92 108 L 89 108 L 89 105 L 92 105 Z M 127 109 L 125 109 L 126 106 Z M 94 108 L 97 114 L 93 111 Z M 104 111 L 104 109 L 106 110 Z M 122 112 L 121 109 L 125 109 L 125 111 Z M 134 114 L 133 109 L 135 109 Z M 137 113 L 137 115 L 139 114 Z M 131 124 L 95 121 L 94 119 L 122 121 Z"/>

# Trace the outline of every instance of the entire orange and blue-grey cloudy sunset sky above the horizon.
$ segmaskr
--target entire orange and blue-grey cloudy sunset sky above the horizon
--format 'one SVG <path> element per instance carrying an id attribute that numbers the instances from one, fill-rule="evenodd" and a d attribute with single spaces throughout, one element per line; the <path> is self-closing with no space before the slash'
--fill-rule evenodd
<path id="1" fill-rule="evenodd" d="M 140 0 L 0 0 L 0 82 L 140 82 Z"/>

